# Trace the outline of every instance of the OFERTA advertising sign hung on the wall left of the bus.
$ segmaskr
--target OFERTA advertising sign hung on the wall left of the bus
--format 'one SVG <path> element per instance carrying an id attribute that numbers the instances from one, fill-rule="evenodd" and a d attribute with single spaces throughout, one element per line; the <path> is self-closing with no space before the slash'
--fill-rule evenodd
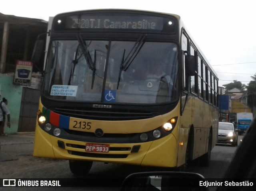
<path id="1" fill-rule="evenodd" d="M 33 63 L 31 61 L 17 60 L 14 75 L 14 83 L 20 85 L 30 85 Z"/>

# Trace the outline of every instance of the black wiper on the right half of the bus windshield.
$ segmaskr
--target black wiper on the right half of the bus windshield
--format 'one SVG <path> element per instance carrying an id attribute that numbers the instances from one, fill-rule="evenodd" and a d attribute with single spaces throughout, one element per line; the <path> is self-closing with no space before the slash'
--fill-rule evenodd
<path id="1" fill-rule="evenodd" d="M 131 65 L 132 61 L 138 55 L 140 49 L 145 43 L 144 40 L 146 36 L 147 36 L 146 34 L 140 35 L 140 37 L 138 38 L 138 40 L 136 41 L 136 43 L 134 44 L 134 46 L 132 47 L 131 51 L 129 52 L 129 54 L 126 56 L 125 59 L 124 59 L 124 55 L 125 55 L 125 49 L 124 49 L 124 54 L 123 54 L 122 62 L 120 65 L 119 75 L 118 75 L 117 89 L 119 87 L 122 71 L 126 71 L 128 67 Z"/>

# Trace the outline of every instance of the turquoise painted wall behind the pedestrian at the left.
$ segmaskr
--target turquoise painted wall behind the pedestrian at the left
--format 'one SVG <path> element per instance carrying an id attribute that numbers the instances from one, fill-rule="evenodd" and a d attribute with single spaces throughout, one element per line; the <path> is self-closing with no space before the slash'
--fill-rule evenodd
<path id="1" fill-rule="evenodd" d="M 0 74 L 0 91 L 2 98 L 8 100 L 8 109 L 10 110 L 10 124 L 8 128 L 5 124 L 4 132 L 7 134 L 15 134 L 18 132 L 18 124 L 20 117 L 20 104 L 22 98 L 22 86 L 13 84 L 13 76 Z"/>

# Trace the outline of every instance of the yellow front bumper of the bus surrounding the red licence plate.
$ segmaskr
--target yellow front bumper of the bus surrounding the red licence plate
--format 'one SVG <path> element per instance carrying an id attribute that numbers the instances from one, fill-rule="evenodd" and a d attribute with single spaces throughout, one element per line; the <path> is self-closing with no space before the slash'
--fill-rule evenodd
<path id="1" fill-rule="evenodd" d="M 86 152 L 87 143 L 95 142 L 61 139 L 44 132 L 37 126 L 33 156 L 158 167 L 177 165 L 178 145 L 173 134 L 143 143 L 108 143 L 110 146 L 108 153 Z M 139 149 L 132 152 L 134 147 Z"/>

